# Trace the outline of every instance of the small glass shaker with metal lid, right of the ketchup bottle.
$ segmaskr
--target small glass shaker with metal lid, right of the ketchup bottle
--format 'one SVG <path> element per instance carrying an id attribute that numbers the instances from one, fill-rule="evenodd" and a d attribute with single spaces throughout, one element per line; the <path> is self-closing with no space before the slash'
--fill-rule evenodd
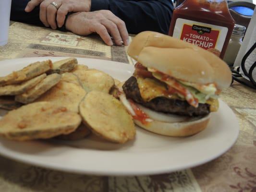
<path id="1" fill-rule="evenodd" d="M 229 40 L 228 48 L 223 58 L 226 63 L 233 64 L 235 62 L 236 56 L 243 42 L 245 29 L 245 26 L 235 24 Z"/>

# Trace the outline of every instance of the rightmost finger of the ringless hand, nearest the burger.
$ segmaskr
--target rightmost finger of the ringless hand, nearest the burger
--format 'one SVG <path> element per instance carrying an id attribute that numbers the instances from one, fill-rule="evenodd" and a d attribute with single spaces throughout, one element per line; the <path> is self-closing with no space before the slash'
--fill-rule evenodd
<path id="1" fill-rule="evenodd" d="M 112 21 L 114 24 L 116 24 L 116 26 L 119 30 L 119 33 L 122 37 L 123 44 L 124 45 L 129 45 L 129 34 L 127 32 L 125 23 L 115 15 L 107 16 L 107 18 L 110 21 Z"/>

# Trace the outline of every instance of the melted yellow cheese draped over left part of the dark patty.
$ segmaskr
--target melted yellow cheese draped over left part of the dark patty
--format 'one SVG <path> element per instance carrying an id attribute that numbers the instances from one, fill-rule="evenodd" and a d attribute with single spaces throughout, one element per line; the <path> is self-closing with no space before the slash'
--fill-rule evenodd
<path id="1" fill-rule="evenodd" d="M 171 99 L 181 99 L 176 94 L 168 94 L 165 84 L 150 78 L 136 77 L 140 95 L 148 102 L 153 98 L 164 96 Z"/>

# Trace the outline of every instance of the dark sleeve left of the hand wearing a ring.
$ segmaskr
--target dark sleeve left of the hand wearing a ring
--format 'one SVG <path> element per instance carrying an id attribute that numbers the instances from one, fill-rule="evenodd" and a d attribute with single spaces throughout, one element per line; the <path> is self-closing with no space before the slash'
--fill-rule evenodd
<path id="1" fill-rule="evenodd" d="M 39 19 L 39 6 L 32 12 L 25 12 L 24 9 L 29 0 L 12 0 L 11 20 L 26 24 L 44 26 Z"/>

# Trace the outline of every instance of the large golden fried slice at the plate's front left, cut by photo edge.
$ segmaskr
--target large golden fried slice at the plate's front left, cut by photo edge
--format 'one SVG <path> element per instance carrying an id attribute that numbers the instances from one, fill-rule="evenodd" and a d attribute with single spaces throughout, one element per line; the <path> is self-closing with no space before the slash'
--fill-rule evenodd
<path id="1" fill-rule="evenodd" d="M 73 132 L 81 117 L 51 102 L 37 102 L 9 111 L 0 120 L 0 135 L 18 141 L 47 139 Z"/>

